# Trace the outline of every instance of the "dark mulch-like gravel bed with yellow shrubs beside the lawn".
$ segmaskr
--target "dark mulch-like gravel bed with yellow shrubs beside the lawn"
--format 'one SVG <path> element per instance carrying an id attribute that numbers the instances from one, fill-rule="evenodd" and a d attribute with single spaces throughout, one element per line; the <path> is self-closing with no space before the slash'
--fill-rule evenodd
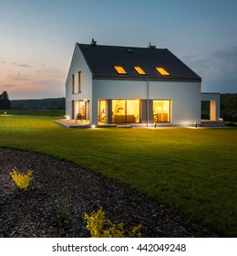
<path id="1" fill-rule="evenodd" d="M 28 191 L 9 172 L 34 170 Z M 158 202 L 77 165 L 34 152 L 0 148 L 0 237 L 89 237 L 84 212 L 103 207 L 126 228 L 142 224 L 143 237 L 214 237 Z"/>

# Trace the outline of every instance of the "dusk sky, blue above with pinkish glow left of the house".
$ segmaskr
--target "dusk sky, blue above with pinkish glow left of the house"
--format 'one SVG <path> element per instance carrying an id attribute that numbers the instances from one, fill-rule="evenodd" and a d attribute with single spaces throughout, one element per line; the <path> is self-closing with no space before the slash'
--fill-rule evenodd
<path id="1" fill-rule="evenodd" d="M 170 51 L 204 92 L 237 92 L 236 0 L 0 0 L 0 93 L 65 97 L 76 43 Z"/>

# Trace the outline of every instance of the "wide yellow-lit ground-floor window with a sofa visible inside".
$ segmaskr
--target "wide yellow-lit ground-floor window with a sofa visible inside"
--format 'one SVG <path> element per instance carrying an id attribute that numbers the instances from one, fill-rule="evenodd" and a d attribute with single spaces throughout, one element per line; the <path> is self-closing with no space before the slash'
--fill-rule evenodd
<path id="1" fill-rule="evenodd" d="M 139 100 L 112 100 L 112 123 L 139 123 Z"/>

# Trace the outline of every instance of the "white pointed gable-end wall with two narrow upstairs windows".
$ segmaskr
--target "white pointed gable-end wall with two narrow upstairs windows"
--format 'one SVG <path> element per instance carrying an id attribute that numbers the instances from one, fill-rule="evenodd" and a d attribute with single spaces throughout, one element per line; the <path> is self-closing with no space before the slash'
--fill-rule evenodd
<path id="1" fill-rule="evenodd" d="M 77 73 L 81 71 L 81 92 L 73 93 L 72 76 L 75 74 L 75 88 L 77 87 Z M 75 102 L 79 100 L 88 100 L 90 102 L 90 109 L 92 108 L 92 74 L 88 69 L 88 64 L 81 54 L 79 48 L 75 47 L 71 65 L 67 75 L 66 81 L 66 117 L 73 119 L 77 110 L 75 109 Z"/>

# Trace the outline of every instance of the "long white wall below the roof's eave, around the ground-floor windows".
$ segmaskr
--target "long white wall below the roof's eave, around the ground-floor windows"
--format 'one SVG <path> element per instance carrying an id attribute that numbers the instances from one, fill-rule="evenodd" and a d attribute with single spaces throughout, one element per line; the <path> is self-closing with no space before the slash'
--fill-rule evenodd
<path id="1" fill-rule="evenodd" d="M 98 123 L 98 100 L 148 98 L 170 100 L 171 124 L 201 123 L 201 82 L 93 80 L 92 98 L 93 123 Z"/>

